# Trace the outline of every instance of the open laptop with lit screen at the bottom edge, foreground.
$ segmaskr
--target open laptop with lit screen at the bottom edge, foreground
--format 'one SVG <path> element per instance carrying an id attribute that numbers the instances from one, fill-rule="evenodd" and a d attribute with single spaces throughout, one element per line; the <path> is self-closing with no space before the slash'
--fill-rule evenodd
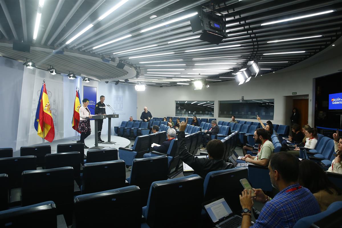
<path id="1" fill-rule="evenodd" d="M 216 198 L 203 203 L 203 207 L 208 213 L 211 222 L 217 228 L 239 228 L 242 217 L 235 215 L 223 197 Z"/>

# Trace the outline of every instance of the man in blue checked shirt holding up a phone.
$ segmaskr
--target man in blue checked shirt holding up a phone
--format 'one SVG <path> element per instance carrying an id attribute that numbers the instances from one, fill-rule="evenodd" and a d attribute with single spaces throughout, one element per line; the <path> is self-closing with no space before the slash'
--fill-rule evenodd
<path id="1" fill-rule="evenodd" d="M 265 203 L 253 228 L 293 227 L 299 219 L 320 213 L 314 195 L 298 184 L 298 163 L 299 160 L 287 152 L 274 153 L 270 157 L 269 177 L 279 192 L 271 199 L 261 189 L 253 189 L 256 195 L 254 200 Z M 241 228 L 250 227 L 253 206 L 251 190 L 245 189 L 239 197 L 243 209 Z"/>

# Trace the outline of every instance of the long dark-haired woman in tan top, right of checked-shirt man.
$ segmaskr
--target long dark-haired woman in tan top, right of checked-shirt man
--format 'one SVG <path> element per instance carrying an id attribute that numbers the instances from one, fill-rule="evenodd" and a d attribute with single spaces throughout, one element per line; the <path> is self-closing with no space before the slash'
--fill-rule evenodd
<path id="1" fill-rule="evenodd" d="M 299 162 L 298 183 L 314 194 L 321 211 L 327 210 L 335 201 L 342 201 L 342 190 L 329 180 L 327 174 L 314 161 Z"/>

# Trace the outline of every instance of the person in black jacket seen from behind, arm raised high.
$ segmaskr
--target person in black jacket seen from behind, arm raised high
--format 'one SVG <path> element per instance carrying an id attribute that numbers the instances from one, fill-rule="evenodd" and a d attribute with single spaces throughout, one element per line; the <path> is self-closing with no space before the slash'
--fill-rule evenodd
<path id="1" fill-rule="evenodd" d="M 209 143 L 207 144 L 209 158 L 198 158 L 190 154 L 186 149 L 185 144 L 184 130 L 187 122 L 188 120 L 186 119 L 186 123 L 182 121 L 179 125 L 179 133 L 177 136 L 179 157 L 184 163 L 186 163 L 194 169 L 195 174 L 198 174 L 202 178 L 205 178 L 206 175 L 211 171 L 234 168 L 233 164 L 227 163 L 224 160 L 222 160 L 224 153 L 224 145 L 221 142 L 221 140 L 218 139 L 213 139 L 209 141 Z"/>

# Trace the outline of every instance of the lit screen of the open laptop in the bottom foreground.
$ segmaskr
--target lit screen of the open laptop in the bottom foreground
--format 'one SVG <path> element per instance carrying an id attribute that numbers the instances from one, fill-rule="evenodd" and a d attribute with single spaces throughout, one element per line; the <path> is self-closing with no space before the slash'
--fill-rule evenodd
<path id="1" fill-rule="evenodd" d="M 204 205 L 213 223 L 219 222 L 220 219 L 233 214 L 232 209 L 228 206 L 224 198 Z"/>

